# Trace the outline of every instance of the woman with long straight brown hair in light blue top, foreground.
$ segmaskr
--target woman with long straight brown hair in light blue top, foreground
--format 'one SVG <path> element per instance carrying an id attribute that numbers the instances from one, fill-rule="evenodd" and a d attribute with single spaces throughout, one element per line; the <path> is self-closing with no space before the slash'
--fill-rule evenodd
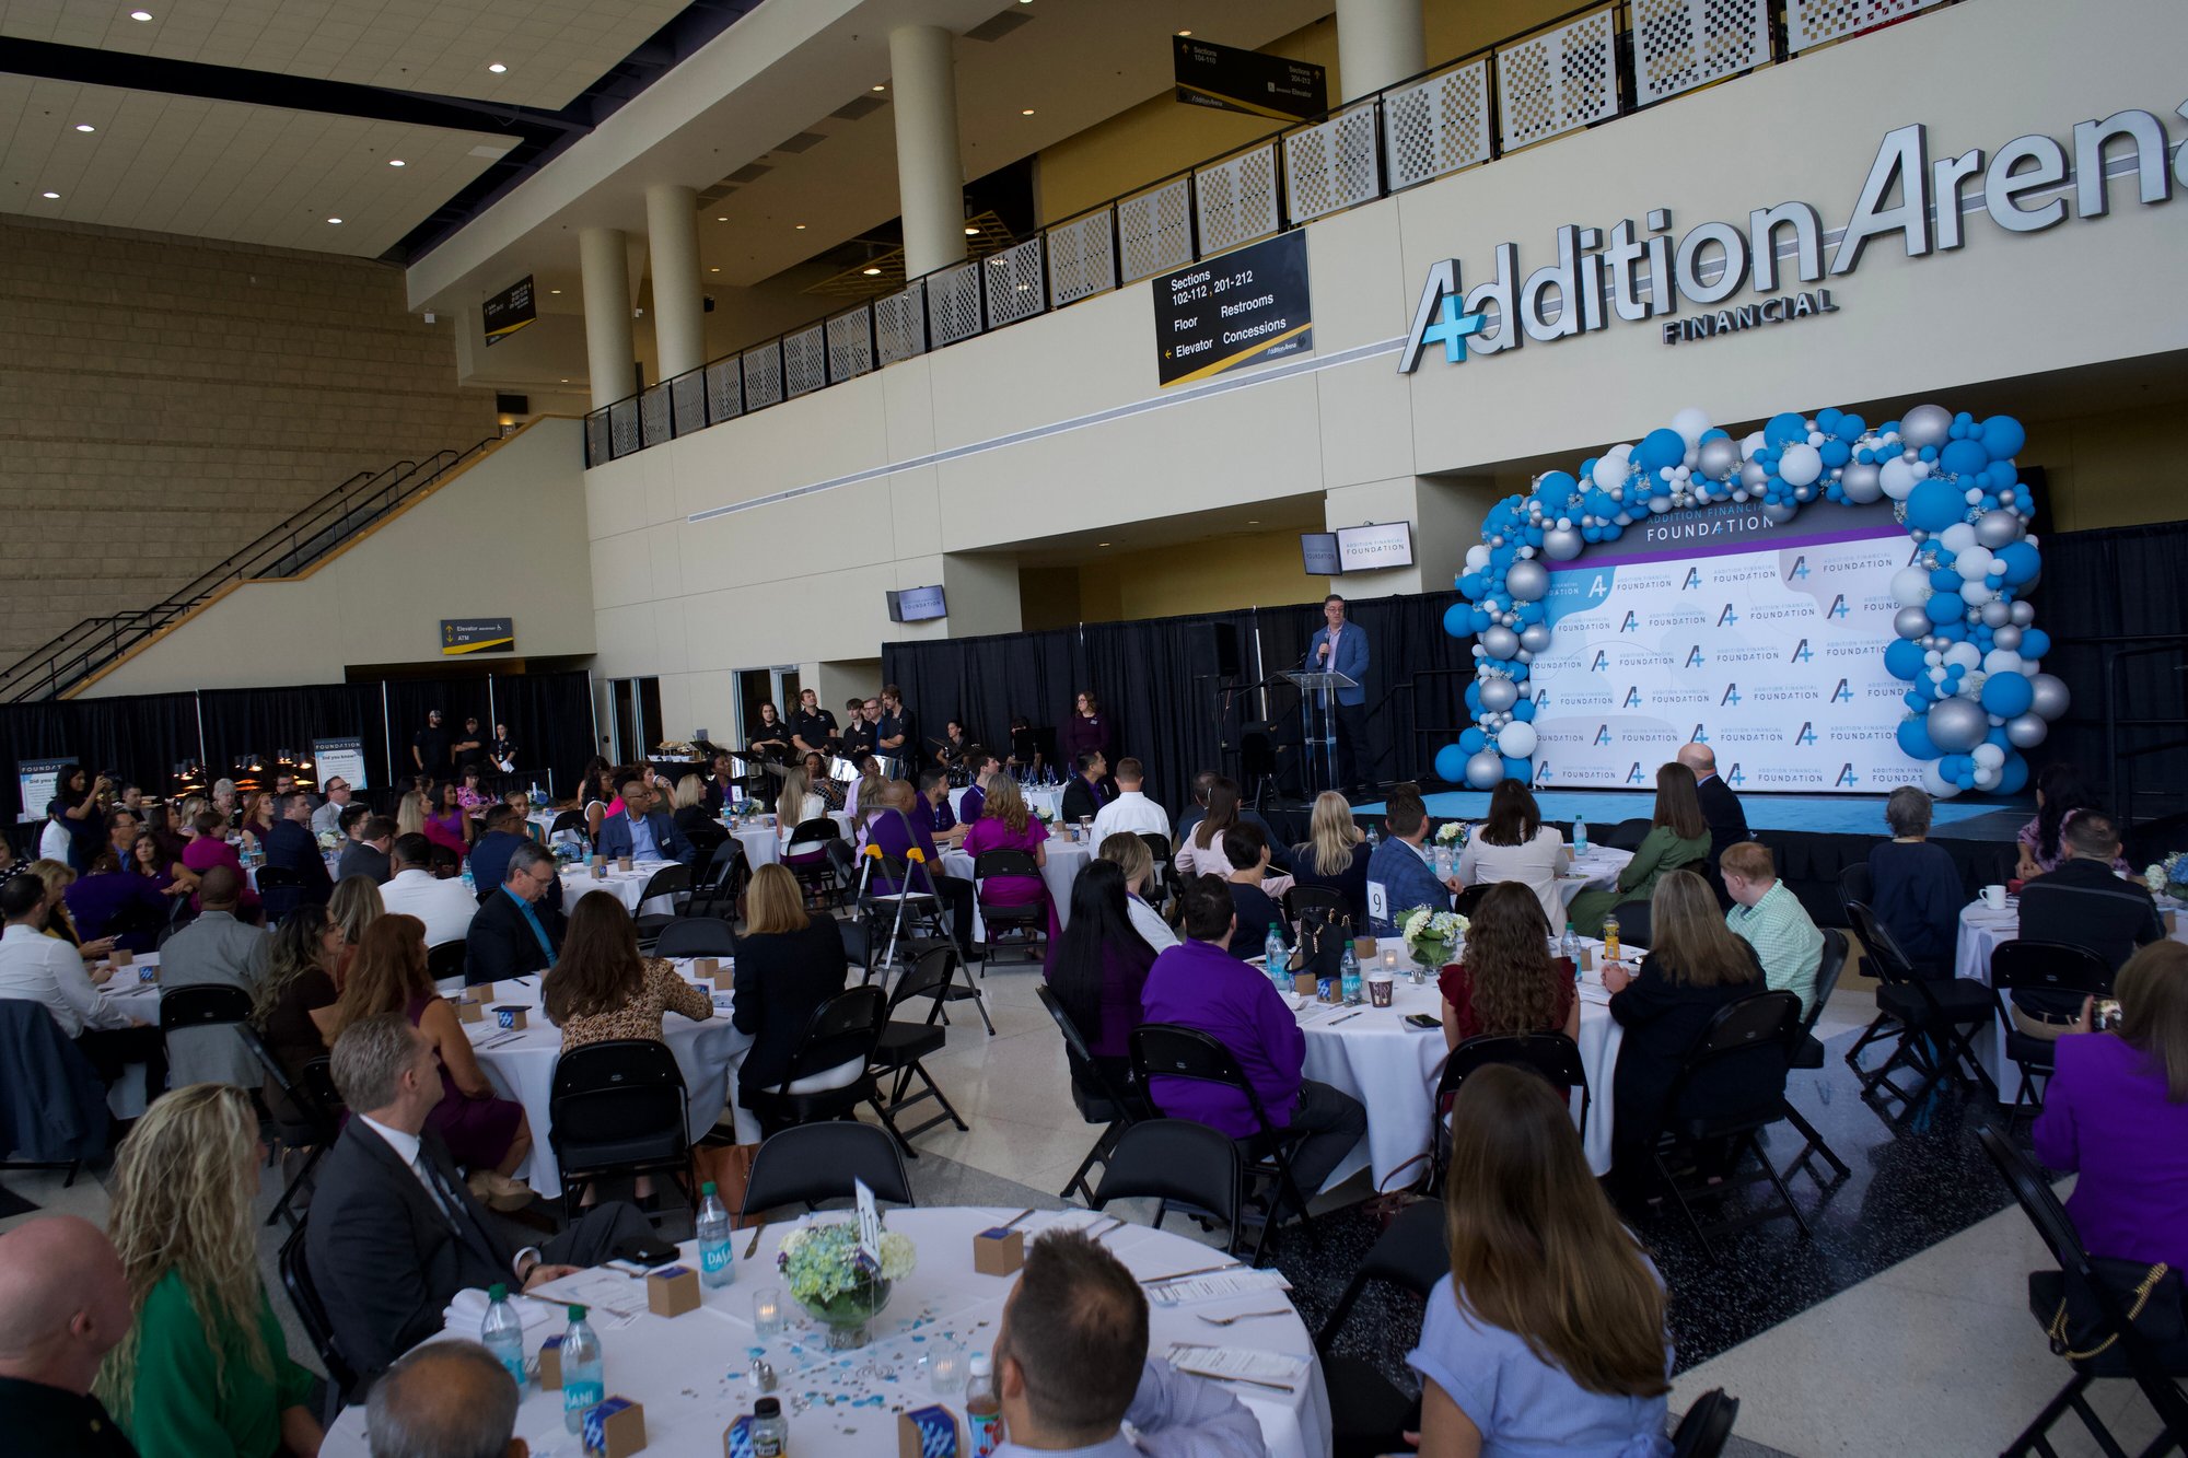
<path id="1" fill-rule="evenodd" d="M 1490 1064 L 1459 1084 L 1444 1237 L 1451 1274 L 1407 1355 L 1422 1458 L 1672 1451 L 1663 1278 L 1536 1073 Z"/>

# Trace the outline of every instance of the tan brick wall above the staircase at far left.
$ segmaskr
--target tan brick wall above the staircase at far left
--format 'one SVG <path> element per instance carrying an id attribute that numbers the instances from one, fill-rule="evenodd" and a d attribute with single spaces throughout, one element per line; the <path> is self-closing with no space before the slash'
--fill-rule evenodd
<path id="1" fill-rule="evenodd" d="M 0 655 L 144 609 L 357 471 L 466 447 L 389 265 L 0 219 Z"/>

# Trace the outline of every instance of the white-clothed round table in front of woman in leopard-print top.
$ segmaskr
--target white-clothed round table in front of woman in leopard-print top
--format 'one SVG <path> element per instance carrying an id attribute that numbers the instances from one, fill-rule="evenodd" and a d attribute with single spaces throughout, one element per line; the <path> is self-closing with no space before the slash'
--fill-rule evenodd
<path id="1" fill-rule="evenodd" d="M 672 965 L 685 979 L 691 976 L 691 961 L 676 959 Z M 724 959 L 722 965 L 726 968 L 729 961 Z M 713 992 L 713 983 L 700 985 Z M 744 1062 L 744 1051 L 753 1046 L 750 1033 L 740 1033 L 731 1027 L 731 994 L 722 990 L 713 996 L 713 1016 L 705 1022 L 694 1022 L 674 1011 L 661 1018 L 663 1042 L 670 1044 L 670 1053 L 676 1055 L 676 1068 L 685 1075 L 694 1141 L 713 1127 L 724 1106 L 733 1103 L 737 1064 Z M 527 1011 L 525 1027 L 512 1035 L 494 1018 L 494 1007 L 523 1007 Z M 532 1123 L 532 1156 L 516 1176 L 538 1193 L 558 1197 L 562 1187 L 554 1149 L 547 1145 L 547 1095 L 554 1090 L 554 1064 L 562 1053 L 562 1031 L 547 1022 L 547 1014 L 540 1009 L 540 979 L 525 976 L 494 983 L 494 996 L 488 1003 L 486 1016 L 477 1022 L 466 1022 L 464 1033 L 470 1038 L 479 1068 L 486 1071 L 486 1079 L 494 1086 L 494 1092 L 523 1103 L 525 1119 Z M 740 1138 L 759 1138 L 757 1123 L 744 1114 L 740 1114 L 740 1123 L 750 1123 L 748 1130 L 740 1130 Z"/>

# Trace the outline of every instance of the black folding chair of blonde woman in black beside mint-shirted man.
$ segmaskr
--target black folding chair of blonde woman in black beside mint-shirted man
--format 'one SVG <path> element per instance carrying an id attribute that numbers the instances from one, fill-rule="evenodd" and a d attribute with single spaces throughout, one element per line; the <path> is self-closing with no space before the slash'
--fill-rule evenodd
<path id="1" fill-rule="evenodd" d="M 1799 1029 L 1801 998 L 1794 994 L 1757 992 L 1744 996 L 1711 1016 L 1709 1027 L 1702 1029 L 1702 1035 L 1694 1042 L 1694 1049 L 1672 1079 L 1672 1092 L 1665 1099 L 1665 1127 L 1654 1141 L 1656 1176 L 1672 1191 L 1680 1215 L 1687 1217 L 1687 1226 L 1711 1259 L 1718 1257 L 1718 1248 L 1709 1243 L 1711 1235 L 1739 1230 L 1777 1219 L 1779 1215 L 1792 1215 L 1794 1224 L 1801 1226 L 1801 1235 L 1809 1235 L 1807 1217 L 1792 1202 L 1785 1180 L 1779 1178 L 1777 1167 L 1761 1147 L 1761 1132 L 1785 1116 L 1785 1057 Z M 1768 1088 L 1757 1088 L 1757 1092 L 1735 1099 L 1729 1090 L 1715 1086 L 1713 1079 L 1722 1071 L 1722 1064 L 1733 1057 L 1750 1060 L 1757 1066 L 1770 1064 L 1774 1079 Z M 1674 1149 L 1694 1149 L 1704 1143 L 1724 1147 L 1724 1180 L 1711 1184 L 1702 1182 L 1700 1176 L 1689 1180 L 1678 1178 L 1667 1156 Z M 1739 1160 L 1746 1154 L 1755 1156 L 1761 1173 L 1735 1178 Z M 1777 1191 L 1777 1204 L 1720 1219 L 1707 1228 L 1702 1226 L 1694 1213 L 1696 1200 L 1720 1200 L 1742 1184 L 1755 1184 L 1757 1180 L 1770 1182 Z"/>

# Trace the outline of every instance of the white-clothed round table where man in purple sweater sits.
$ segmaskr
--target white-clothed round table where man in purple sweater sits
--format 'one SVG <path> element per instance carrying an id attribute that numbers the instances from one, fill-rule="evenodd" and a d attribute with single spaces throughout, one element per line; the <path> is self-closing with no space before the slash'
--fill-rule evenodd
<path id="1" fill-rule="evenodd" d="M 1396 939 L 1387 939 L 1396 941 Z M 1626 1031 L 1610 1016 L 1604 992 L 1602 941 L 1588 939 L 1591 968 L 1580 974 L 1580 1066 L 1588 1073 L 1588 1121 L 1580 1127 L 1588 1169 L 1610 1169 L 1610 1073 L 1619 1062 Z M 1630 948 L 1632 950 L 1632 948 Z M 1381 963 L 1381 952 L 1376 954 Z M 1258 961 L 1256 961 L 1258 965 Z M 1407 976 L 1407 954 L 1398 950 L 1398 985 L 1389 1007 L 1332 1007 L 1308 1000 L 1293 1016 L 1306 1033 L 1306 1077 L 1339 1088 L 1368 1110 L 1368 1138 L 1352 1147 L 1324 1189 L 1368 1169 L 1376 1187 L 1416 1154 L 1429 1149 L 1435 1079 L 1444 1073 L 1444 994 L 1435 979 L 1416 987 Z M 1363 968 L 1368 972 L 1372 968 Z M 1300 998 L 1289 998 L 1297 1003 Z M 1433 1029 L 1416 1029 L 1407 1014 L 1429 1014 Z M 1418 1169 L 1413 1171 L 1418 1173 Z"/>

